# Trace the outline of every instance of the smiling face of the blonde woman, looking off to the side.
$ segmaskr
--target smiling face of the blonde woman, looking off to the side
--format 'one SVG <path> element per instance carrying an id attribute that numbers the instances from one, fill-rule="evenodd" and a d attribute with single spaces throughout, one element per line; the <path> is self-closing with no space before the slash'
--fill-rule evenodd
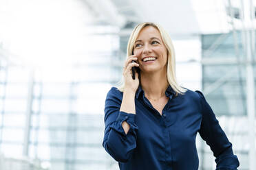
<path id="1" fill-rule="evenodd" d="M 141 29 L 134 43 L 134 54 L 138 54 L 138 64 L 142 72 L 166 71 L 167 48 L 156 27 Z"/>

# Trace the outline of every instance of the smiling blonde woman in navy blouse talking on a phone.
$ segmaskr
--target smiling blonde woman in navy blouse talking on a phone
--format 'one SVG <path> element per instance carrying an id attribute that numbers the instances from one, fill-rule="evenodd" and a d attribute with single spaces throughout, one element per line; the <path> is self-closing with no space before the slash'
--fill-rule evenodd
<path id="1" fill-rule="evenodd" d="M 133 66 L 139 68 L 135 80 Z M 107 94 L 103 140 L 121 170 L 198 169 L 198 132 L 216 157 L 216 169 L 237 169 L 232 144 L 204 95 L 178 85 L 173 45 L 160 25 L 134 29 L 122 75 L 122 86 Z"/>

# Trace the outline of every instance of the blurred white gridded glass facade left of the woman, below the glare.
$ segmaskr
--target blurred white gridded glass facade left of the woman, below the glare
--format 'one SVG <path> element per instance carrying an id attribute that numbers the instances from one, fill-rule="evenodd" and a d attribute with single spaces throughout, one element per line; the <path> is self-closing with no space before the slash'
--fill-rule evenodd
<path id="1" fill-rule="evenodd" d="M 114 161 L 102 147 L 103 112 L 110 84 L 121 75 L 119 37 L 106 34 L 108 26 L 92 29 L 98 32 L 87 36 L 92 48 L 86 48 L 83 59 L 73 66 L 32 70 L 0 60 L 4 157 L 21 158 L 28 152 L 45 169 L 111 169 Z"/>

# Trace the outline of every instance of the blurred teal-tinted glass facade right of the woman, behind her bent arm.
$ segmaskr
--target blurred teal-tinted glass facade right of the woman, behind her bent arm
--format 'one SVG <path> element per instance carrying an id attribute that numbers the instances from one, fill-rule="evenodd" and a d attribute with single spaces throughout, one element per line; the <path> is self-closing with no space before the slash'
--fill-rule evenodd
<path id="1" fill-rule="evenodd" d="M 239 169 L 248 169 L 250 148 L 246 114 L 246 64 L 244 64 L 246 47 L 243 34 L 241 31 L 236 31 L 202 35 L 202 60 L 206 61 L 202 64 L 202 89 L 209 92 L 206 99 L 229 141 L 233 143 L 234 154 L 240 161 Z M 253 58 L 255 60 L 255 56 Z M 254 65 L 254 76 L 255 69 Z M 201 154 L 203 162 L 205 162 L 204 158 L 207 160 L 213 157 L 211 150 L 205 144 L 202 145 Z M 203 169 L 213 169 L 213 167 L 203 163 Z"/>

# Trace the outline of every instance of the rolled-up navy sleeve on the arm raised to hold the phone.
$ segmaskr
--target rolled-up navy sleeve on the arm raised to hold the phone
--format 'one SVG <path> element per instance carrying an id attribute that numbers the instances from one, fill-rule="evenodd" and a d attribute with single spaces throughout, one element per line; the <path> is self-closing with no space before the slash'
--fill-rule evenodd
<path id="1" fill-rule="evenodd" d="M 127 162 L 136 148 L 138 127 L 135 114 L 120 111 L 122 100 L 117 88 L 111 88 L 105 100 L 105 132 L 103 147 L 118 162 Z M 129 131 L 125 134 L 122 122 L 126 121 Z"/>

